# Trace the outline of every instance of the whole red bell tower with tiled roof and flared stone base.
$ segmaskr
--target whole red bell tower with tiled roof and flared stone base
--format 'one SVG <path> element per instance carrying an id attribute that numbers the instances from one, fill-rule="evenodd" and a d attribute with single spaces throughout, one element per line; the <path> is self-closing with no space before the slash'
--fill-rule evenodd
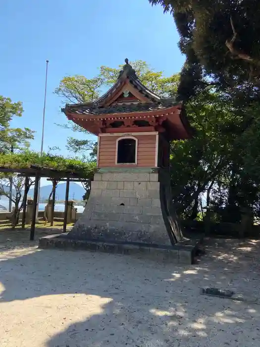
<path id="1" fill-rule="evenodd" d="M 188 139 L 182 103 L 144 86 L 128 59 L 97 101 L 66 105 L 69 120 L 98 136 L 97 169 L 85 211 L 67 237 L 172 247 L 183 239 L 170 193 L 169 148 Z"/>

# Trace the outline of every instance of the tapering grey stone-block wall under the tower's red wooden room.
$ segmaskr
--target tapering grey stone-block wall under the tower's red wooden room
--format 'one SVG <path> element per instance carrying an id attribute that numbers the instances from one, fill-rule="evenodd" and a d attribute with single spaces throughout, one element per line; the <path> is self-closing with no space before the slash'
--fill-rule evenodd
<path id="1" fill-rule="evenodd" d="M 181 233 L 165 206 L 169 180 L 153 171 L 95 173 L 85 211 L 68 237 L 164 246 L 178 241 Z"/>

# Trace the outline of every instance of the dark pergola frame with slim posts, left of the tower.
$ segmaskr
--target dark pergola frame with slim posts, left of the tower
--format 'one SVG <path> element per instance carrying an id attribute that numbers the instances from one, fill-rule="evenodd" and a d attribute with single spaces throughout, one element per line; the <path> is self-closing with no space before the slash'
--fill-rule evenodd
<path id="1" fill-rule="evenodd" d="M 68 198 L 69 198 L 69 182 L 87 182 L 88 178 L 84 177 L 82 173 L 77 173 L 74 170 L 59 171 L 57 169 L 50 169 L 41 167 L 38 165 L 31 165 L 26 168 L 12 167 L 0 167 L 0 173 L 18 173 L 18 176 L 25 177 L 24 196 L 23 196 L 23 212 L 22 212 L 22 228 L 25 228 L 26 219 L 26 205 L 27 205 L 27 194 L 29 190 L 29 178 L 35 177 L 34 184 L 34 197 L 33 197 L 33 214 L 31 222 L 30 240 L 34 240 L 35 235 L 35 223 L 37 213 L 37 202 L 38 202 L 38 191 L 39 191 L 39 180 L 42 177 L 50 178 L 53 185 L 52 190 L 52 216 L 51 226 L 53 226 L 54 217 L 54 205 L 55 205 L 55 189 L 57 181 L 66 181 L 66 193 L 65 193 L 65 209 L 64 209 L 64 222 L 63 232 L 66 232 L 67 227 L 67 214 L 68 214 Z"/>

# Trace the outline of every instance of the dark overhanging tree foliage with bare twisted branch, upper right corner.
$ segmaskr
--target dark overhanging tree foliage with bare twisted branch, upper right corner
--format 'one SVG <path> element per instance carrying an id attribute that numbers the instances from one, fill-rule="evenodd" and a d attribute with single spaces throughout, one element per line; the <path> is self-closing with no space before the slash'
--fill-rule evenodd
<path id="1" fill-rule="evenodd" d="M 174 17 L 187 58 L 181 87 L 189 80 L 194 88 L 204 71 L 220 85 L 259 85 L 259 0 L 149 1 Z"/>

